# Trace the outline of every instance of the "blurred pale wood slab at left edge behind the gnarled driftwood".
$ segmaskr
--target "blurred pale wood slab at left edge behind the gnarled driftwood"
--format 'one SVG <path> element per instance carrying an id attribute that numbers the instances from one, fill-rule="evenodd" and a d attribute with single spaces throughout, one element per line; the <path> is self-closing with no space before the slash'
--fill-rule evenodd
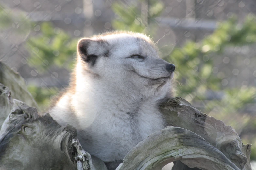
<path id="1" fill-rule="evenodd" d="M 0 61 L 0 83 L 9 88 L 13 93 L 14 99 L 25 102 L 28 106 L 39 107 L 34 100 L 33 96 L 28 92 L 25 80 L 19 73 L 9 68 L 6 64 Z"/>

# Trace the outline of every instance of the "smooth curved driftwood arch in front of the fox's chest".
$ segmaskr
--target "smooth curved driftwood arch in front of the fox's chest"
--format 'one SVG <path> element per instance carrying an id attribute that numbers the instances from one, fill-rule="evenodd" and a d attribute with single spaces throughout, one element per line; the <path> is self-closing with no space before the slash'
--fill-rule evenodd
<path id="1" fill-rule="evenodd" d="M 159 170 L 176 160 L 202 170 L 239 170 L 201 136 L 179 127 L 167 127 L 150 135 L 125 156 L 117 170 Z"/>

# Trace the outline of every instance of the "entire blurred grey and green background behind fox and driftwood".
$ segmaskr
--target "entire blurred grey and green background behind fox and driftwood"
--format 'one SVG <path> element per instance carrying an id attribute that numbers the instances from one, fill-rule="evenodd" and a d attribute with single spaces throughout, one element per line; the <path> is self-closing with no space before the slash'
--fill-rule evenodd
<path id="1" fill-rule="evenodd" d="M 79 38 L 148 34 L 176 65 L 176 96 L 235 128 L 256 160 L 255 15 L 255 0 L 1 0 L 0 60 L 43 110 L 68 85 Z"/>

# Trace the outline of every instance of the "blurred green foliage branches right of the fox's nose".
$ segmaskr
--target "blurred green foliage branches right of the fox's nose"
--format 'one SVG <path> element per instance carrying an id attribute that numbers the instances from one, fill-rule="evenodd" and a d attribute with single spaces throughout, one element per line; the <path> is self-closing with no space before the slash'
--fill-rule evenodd
<path id="1" fill-rule="evenodd" d="M 189 41 L 183 47 L 176 48 L 172 54 L 165 59 L 177 65 L 176 80 L 182 83 L 178 86 L 177 95 L 187 100 L 203 100 L 207 89 L 213 91 L 224 90 L 225 98 L 221 101 L 224 106 L 230 106 L 229 112 L 236 111 L 250 103 L 255 98 L 255 87 L 247 90 L 230 89 L 222 86 L 222 78 L 212 73 L 215 66 L 214 60 L 223 53 L 227 46 L 239 46 L 256 42 L 256 20 L 249 16 L 242 28 L 237 28 L 237 20 L 232 18 L 218 24 L 213 34 L 203 39 L 200 43 Z M 240 95 L 239 95 L 240 94 Z M 236 96 L 234 98 L 234 96 Z M 232 99 L 232 100 L 231 100 Z M 219 106 L 219 102 L 215 106 Z M 211 102 L 213 105 L 213 102 Z M 210 108 L 208 106 L 207 112 Z M 224 108 L 225 110 L 225 108 Z M 223 110 L 223 111 L 224 111 Z"/>

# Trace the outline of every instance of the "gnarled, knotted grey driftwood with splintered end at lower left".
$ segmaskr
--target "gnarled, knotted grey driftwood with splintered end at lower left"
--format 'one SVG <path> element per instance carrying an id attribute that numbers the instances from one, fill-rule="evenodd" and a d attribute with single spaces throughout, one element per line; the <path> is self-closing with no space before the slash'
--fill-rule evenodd
<path id="1" fill-rule="evenodd" d="M 0 169 L 107 170 L 82 149 L 74 127 L 62 127 L 48 113 L 39 116 L 36 108 L 12 100 L 1 83 L 0 94 L 0 106 L 6 106 L 0 115 L 10 112 L 0 130 Z"/>

